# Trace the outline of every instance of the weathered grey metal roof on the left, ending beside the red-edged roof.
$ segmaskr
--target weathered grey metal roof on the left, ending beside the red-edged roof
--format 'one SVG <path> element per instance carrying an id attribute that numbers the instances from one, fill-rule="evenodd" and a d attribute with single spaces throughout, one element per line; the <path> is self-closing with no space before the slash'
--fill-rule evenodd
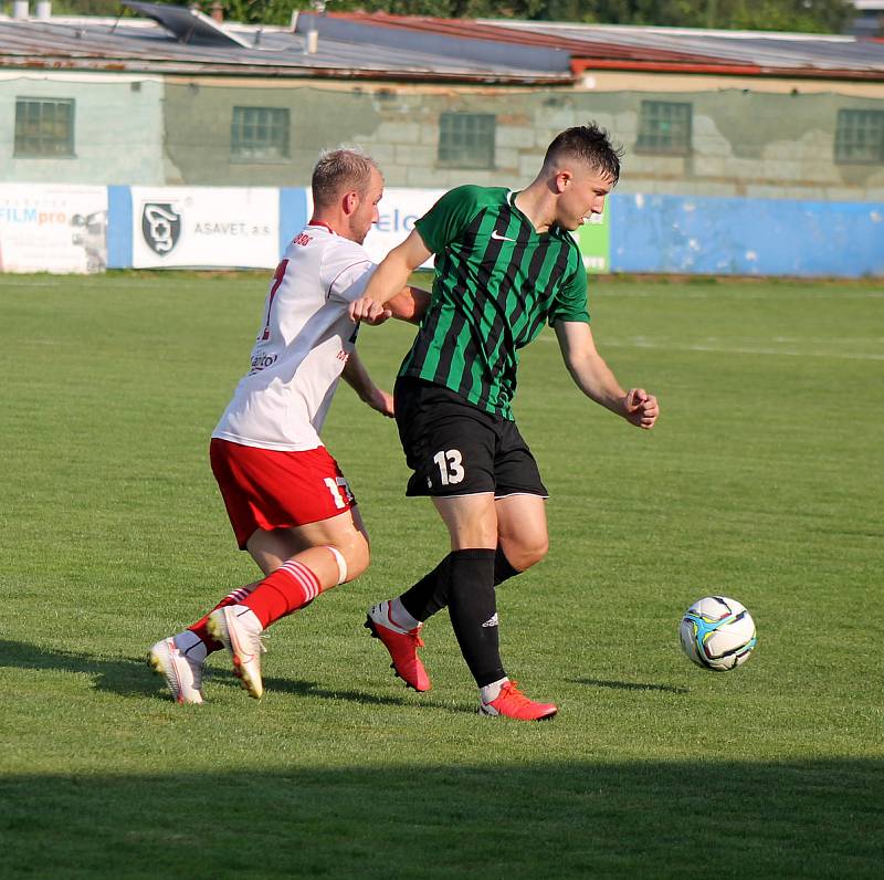
<path id="1" fill-rule="evenodd" d="M 139 3 L 149 7 L 148 3 Z M 167 8 L 168 9 L 168 8 Z M 188 10 L 182 9 L 186 13 Z M 371 39 L 323 33 L 308 52 L 309 20 L 291 28 L 225 22 L 228 44 L 180 42 L 167 28 L 143 19 L 0 18 L 0 69 L 126 71 L 180 74 L 343 77 L 464 83 L 570 83 L 573 74 L 525 65 L 512 53 L 467 51 L 443 45 L 439 52 L 420 43 L 396 46 Z M 334 30 L 334 29 L 333 29 Z"/>

